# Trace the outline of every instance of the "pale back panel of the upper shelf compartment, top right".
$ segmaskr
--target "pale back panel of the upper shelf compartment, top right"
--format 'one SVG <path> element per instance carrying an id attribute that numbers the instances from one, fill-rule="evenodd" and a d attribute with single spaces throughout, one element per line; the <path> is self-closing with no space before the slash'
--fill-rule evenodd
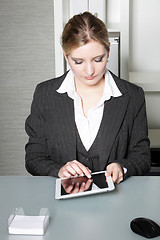
<path id="1" fill-rule="evenodd" d="M 160 1 L 130 1 L 130 71 L 160 71 Z"/>

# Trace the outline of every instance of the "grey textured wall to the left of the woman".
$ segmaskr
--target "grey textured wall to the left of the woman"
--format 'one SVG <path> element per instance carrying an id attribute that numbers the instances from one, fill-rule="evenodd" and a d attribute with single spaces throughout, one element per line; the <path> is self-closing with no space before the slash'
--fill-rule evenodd
<path id="1" fill-rule="evenodd" d="M 0 175 L 25 175 L 24 122 L 54 75 L 53 1 L 0 0 Z"/>

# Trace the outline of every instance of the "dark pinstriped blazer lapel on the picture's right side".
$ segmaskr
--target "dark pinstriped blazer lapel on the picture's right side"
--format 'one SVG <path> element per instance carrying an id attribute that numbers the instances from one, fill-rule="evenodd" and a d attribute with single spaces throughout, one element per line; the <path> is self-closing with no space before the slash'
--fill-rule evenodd
<path id="1" fill-rule="evenodd" d="M 105 102 L 104 114 L 100 126 L 102 128 L 99 153 L 101 169 L 104 169 L 106 166 L 112 145 L 125 116 L 128 101 L 128 94 L 124 94 L 121 97 L 111 98 Z"/>

